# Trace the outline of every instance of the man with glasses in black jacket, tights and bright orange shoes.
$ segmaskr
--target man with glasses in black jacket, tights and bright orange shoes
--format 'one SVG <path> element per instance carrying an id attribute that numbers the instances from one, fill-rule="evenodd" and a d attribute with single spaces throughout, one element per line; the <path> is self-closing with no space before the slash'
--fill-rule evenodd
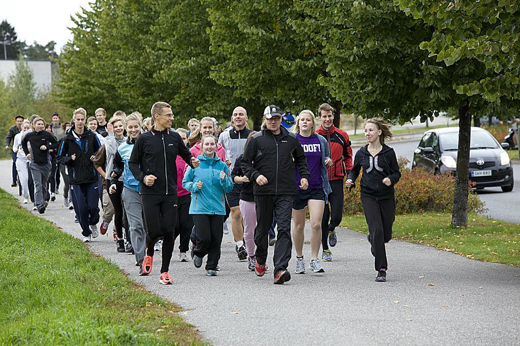
<path id="1" fill-rule="evenodd" d="M 152 270 L 153 246 L 163 237 L 162 266 L 159 281 L 173 284 L 168 273 L 175 242 L 174 229 L 177 217 L 177 155 L 191 167 L 199 166 L 199 160 L 191 155 L 179 134 L 172 127 L 172 106 L 155 102 L 151 109 L 154 125 L 142 134 L 134 144 L 128 167 L 141 182 L 142 209 L 146 222 L 146 256 L 141 274 Z"/>

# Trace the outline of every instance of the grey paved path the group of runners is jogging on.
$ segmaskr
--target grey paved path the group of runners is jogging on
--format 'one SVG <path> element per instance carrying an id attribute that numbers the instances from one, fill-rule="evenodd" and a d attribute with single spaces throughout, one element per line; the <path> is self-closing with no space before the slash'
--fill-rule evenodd
<path id="1" fill-rule="evenodd" d="M 0 162 L 0 188 L 16 194 L 8 185 L 9 167 Z M 60 202 L 50 203 L 43 217 L 80 236 Z M 326 274 L 294 274 L 277 286 L 271 275 L 246 271 L 230 241 L 225 235 L 217 277 L 174 261 L 171 286 L 158 283 L 160 256 L 152 275 L 139 277 L 133 256 L 117 254 L 110 237 L 99 236 L 88 247 L 184 307 L 180 315 L 216 345 L 520 344 L 520 268 L 392 241 L 388 282 L 376 283 L 365 236 L 342 229 L 334 262 L 323 263 Z M 306 257 L 309 251 L 306 245 Z M 294 265 L 293 252 L 292 270 Z"/>

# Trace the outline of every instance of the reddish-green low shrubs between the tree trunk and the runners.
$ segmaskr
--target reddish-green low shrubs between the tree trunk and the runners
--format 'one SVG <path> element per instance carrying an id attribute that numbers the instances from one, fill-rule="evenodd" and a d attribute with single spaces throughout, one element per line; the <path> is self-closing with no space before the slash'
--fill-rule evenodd
<path id="1" fill-rule="evenodd" d="M 453 208 L 453 192 L 455 178 L 449 174 L 434 175 L 424 168 L 408 168 L 408 159 L 399 157 L 401 179 L 395 185 L 396 214 L 415 212 L 446 212 Z M 361 178 L 361 177 L 360 177 Z M 360 214 L 363 212 L 360 197 L 360 178 L 352 191 L 344 188 L 344 214 Z M 482 212 L 484 202 L 473 193 L 470 185 L 467 202 L 468 212 Z"/>

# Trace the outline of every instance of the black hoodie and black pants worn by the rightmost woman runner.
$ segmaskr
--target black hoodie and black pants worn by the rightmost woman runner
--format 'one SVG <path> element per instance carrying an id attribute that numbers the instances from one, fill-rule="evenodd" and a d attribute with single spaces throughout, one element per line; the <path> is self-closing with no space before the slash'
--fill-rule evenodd
<path id="1" fill-rule="evenodd" d="M 354 157 L 354 167 L 347 179 L 356 181 L 361 168 L 361 203 L 367 220 L 372 254 L 375 257 L 375 270 L 388 268 L 385 243 L 392 239 L 392 224 L 395 220 L 394 185 L 401 178 L 394 149 L 383 144 L 383 149 L 373 157 L 368 152 L 368 145 L 360 148 Z M 392 184 L 388 187 L 383 179 Z"/>

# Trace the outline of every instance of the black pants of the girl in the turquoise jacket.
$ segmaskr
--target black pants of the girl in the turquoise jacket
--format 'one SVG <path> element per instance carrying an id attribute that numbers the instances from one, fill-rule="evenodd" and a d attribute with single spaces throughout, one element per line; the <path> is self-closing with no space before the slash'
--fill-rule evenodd
<path id="1" fill-rule="evenodd" d="M 220 260 L 224 215 L 193 215 L 193 222 L 197 228 L 197 244 L 193 254 L 198 257 L 207 255 L 206 270 L 215 270 Z"/>

